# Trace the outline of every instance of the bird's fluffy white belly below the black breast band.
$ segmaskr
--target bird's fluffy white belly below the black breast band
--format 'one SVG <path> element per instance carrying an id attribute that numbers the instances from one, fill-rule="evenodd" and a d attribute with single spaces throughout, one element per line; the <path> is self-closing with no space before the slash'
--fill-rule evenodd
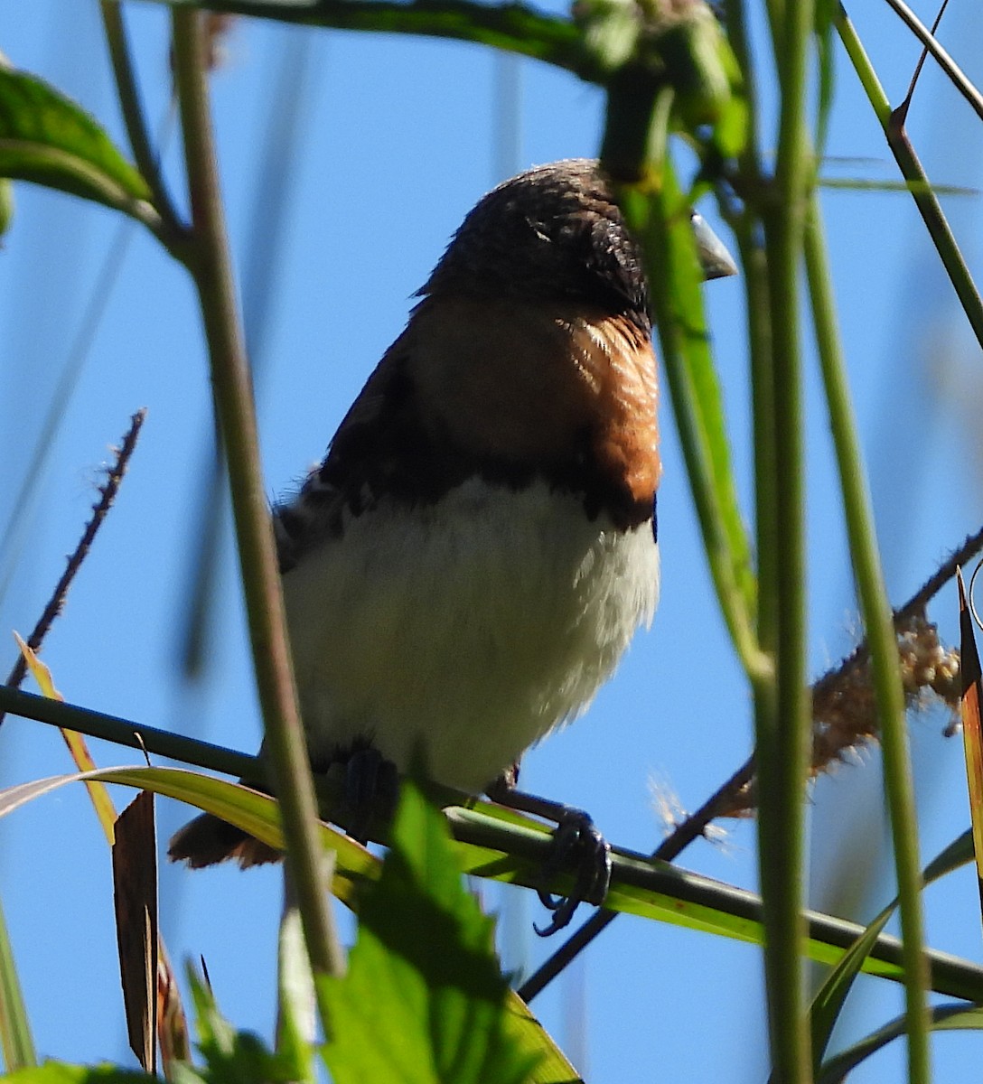
<path id="1" fill-rule="evenodd" d="M 479 791 L 586 707 L 658 593 L 650 524 L 590 522 L 545 485 L 351 518 L 284 577 L 311 754 L 367 738 L 402 771 L 422 747 Z"/>

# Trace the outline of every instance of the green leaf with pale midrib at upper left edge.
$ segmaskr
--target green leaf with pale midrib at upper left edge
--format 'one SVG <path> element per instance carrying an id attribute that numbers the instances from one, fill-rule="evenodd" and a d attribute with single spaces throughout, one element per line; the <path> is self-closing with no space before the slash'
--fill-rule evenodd
<path id="1" fill-rule="evenodd" d="M 133 212 L 143 177 L 80 106 L 42 79 L 0 68 L 0 177 Z"/>

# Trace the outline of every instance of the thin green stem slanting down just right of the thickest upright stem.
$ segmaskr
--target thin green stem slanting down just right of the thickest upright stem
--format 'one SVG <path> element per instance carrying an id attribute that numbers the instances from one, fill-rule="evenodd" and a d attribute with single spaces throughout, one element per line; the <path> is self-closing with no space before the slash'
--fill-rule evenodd
<path id="1" fill-rule="evenodd" d="M 929 975 L 923 954 L 921 862 L 905 727 L 904 689 L 898 673 L 894 618 L 880 566 L 874 513 L 865 483 L 867 476 L 851 405 L 840 335 L 836 326 L 832 284 L 819 208 L 815 199 L 806 221 L 805 263 L 829 406 L 829 424 L 843 493 L 846 532 L 867 630 L 866 642 L 870 649 L 874 691 L 880 717 L 884 789 L 894 841 L 903 935 L 905 999 L 908 1011 L 908 1081 L 911 1084 L 923 1084 L 929 1080 L 929 1018 L 926 1004 Z"/>

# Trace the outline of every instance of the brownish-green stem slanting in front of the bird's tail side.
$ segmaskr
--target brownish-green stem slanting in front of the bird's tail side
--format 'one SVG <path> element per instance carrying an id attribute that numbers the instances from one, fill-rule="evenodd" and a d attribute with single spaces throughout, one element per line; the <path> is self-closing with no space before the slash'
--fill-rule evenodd
<path id="1" fill-rule="evenodd" d="M 315 976 L 339 973 L 341 960 L 316 834 L 318 805 L 297 709 L 273 531 L 259 468 L 253 386 L 219 192 L 203 21 L 199 12 L 183 8 L 174 9 L 171 20 L 195 246 L 190 270 L 201 297 L 216 413 L 227 450 L 266 749 L 280 797 L 287 863 L 297 889 L 311 967 Z M 325 1004 L 321 1008 L 327 1031 Z"/>

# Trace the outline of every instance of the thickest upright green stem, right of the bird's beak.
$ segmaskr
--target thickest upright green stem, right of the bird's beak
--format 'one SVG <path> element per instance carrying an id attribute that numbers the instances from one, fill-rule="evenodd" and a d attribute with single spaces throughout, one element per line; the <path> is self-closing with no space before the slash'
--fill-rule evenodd
<path id="1" fill-rule="evenodd" d="M 772 14 L 776 14 L 774 9 Z M 755 701 L 760 779 L 759 864 L 765 907 L 765 978 L 773 1075 L 811 1080 L 801 947 L 805 780 L 810 757 L 806 697 L 805 532 L 802 360 L 798 278 L 813 164 L 806 129 L 806 50 L 813 4 L 787 4 L 772 21 L 781 106 L 775 178 L 765 208 L 773 314 L 772 387 L 775 537 L 763 539 L 776 572 L 776 686 Z"/>

